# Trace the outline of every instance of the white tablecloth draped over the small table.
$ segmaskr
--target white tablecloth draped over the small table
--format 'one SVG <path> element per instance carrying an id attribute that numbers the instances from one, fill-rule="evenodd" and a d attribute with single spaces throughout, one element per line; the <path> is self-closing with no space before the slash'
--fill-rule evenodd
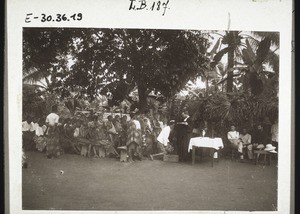
<path id="1" fill-rule="evenodd" d="M 206 148 L 214 148 L 219 150 L 223 148 L 222 138 L 208 138 L 208 137 L 193 137 L 190 139 L 188 151 L 190 151 L 193 146 L 197 147 L 206 147 Z"/>

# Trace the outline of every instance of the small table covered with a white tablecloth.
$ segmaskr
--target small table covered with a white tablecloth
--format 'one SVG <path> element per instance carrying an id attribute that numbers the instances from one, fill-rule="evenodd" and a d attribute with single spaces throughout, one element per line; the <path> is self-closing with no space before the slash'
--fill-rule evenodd
<path id="1" fill-rule="evenodd" d="M 188 151 L 192 150 L 192 164 L 195 163 L 196 148 L 209 148 L 213 151 L 212 166 L 214 158 L 218 158 L 218 151 L 224 148 L 222 138 L 208 138 L 208 137 L 193 137 L 190 139 Z"/>

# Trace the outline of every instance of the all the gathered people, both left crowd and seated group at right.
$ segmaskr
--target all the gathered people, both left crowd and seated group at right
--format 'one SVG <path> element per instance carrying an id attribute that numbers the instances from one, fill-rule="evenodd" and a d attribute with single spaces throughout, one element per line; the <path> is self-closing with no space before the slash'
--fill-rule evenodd
<path id="1" fill-rule="evenodd" d="M 207 125 L 199 129 L 188 111 L 183 111 L 177 121 L 168 121 L 163 115 L 153 112 L 110 114 L 106 118 L 103 115 L 91 113 L 89 116 L 62 118 L 54 107 L 46 118 L 27 117 L 22 122 L 24 167 L 26 150 L 43 152 L 47 158 L 64 153 L 119 158 L 120 149 L 125 149 L 128 161 L 153 160 L 165 154 L 177 154 L 179 161 L 186 161 L 191 156 L 188 151 L 191 137 L 214 137 Z M 244 159 L 245 150 L 247 157 L 253 159 L 254 149 L 269 148 L 270 143 L 278 147 L 278 123 L 270 130 L 264 130 L 259 124 L 252 134 L 245 128 L 240 134 L 232 125 L 227 139 L 231 147 L 237 149 L 240 159 Z"/>

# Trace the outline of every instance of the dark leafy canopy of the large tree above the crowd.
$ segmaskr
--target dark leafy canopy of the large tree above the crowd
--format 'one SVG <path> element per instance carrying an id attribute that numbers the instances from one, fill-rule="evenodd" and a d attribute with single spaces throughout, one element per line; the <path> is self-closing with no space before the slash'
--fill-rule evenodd
<path id="1" fill-rule="evenodd" d="M 24 29 L 24 76 L 50 76 L 49 90 L 119 103 L 138 89 L 170 97 L 208 66 L 207 35 L 146 29 Z"/>

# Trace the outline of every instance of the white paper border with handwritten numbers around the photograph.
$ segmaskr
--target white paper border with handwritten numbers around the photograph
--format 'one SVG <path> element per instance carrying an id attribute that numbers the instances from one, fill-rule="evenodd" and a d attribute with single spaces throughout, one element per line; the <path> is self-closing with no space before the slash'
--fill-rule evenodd
<path id="1" fill-rule="evenodd" d="M 147 28 L 192 30 L 243 30 L 280 33 L 278 211 L 289 213 L 292 146 L 292 1 L 291 0 L 169 0 L 169 9 L 158 12 L 129 10 L 129 0 L 9 0 L 6 2 L 6 100 L 8 116 L 6 151 L 6 199 L 10 213 L 62 213 L 64 211 L 22 210 L 21 121 L 22 121 L 22 32 L 23 27 Z M 26 14 L 82 13 L 80 22 L 26 23 Z M 279 15 L 280 13 L 280 15 Z M 7 195 L 9 194 L 9 195 Z M 118 211 L 118 213 L 122 211 Z M 152 213 L 154 211 L 145 211 Z M 68 211 L 104 213 L 104 211 Z M 115 213 L 115 211 L 105 212 Z M 124 212 L 126 213 L 126 212 Z M 132 213 L 132 211 L 127 212 Z M 167 211 L 166 211 L 167 213 Z M 169 213 L 174 213 L 171 211 Z M 207 211 L 188 211 L 207 213 Z M 235 213 L 210 211 L 210 213 Z M 247 212 L 245 212 L 247 213 Z M 251 212 L 259 213 L 259 212 Z"/>

